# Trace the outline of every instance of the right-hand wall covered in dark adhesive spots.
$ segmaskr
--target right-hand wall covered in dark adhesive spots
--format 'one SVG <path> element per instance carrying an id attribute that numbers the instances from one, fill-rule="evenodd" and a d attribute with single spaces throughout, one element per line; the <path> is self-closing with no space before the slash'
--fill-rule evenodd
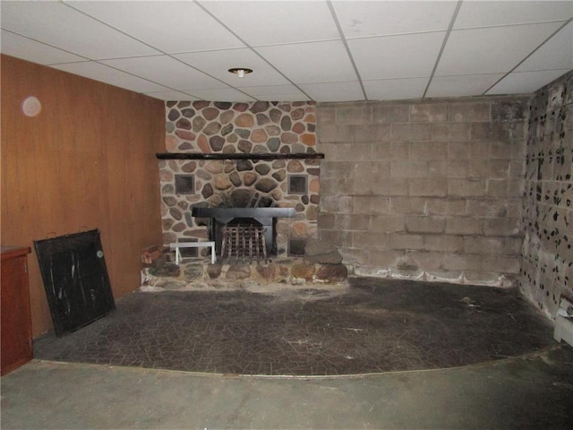
<path id="1" fill-rule="evenodd" d="M 573 298 L 573 73 L 535 93 L 526 136 L 521 289 L 554 317 Z"/>

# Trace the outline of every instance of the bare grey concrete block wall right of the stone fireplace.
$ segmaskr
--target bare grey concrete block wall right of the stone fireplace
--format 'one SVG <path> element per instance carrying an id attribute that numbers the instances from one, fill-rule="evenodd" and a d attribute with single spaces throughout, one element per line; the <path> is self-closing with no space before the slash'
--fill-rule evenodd
<path id="1" fill-rule="evenodd" d="M 319 105 L 319 236 L 358 274 L 512 283 L 526 101 Z"/>

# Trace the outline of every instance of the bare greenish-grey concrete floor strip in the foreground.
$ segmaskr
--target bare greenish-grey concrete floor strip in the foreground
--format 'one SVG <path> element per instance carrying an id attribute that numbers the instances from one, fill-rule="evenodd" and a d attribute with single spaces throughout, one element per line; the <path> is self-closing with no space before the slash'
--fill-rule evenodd
<path id="1" fill-rule="evenodd" d="M 573 348 L 430 371 L 221 376 L 34 360 L 2 428 L 571 428 Z"/>

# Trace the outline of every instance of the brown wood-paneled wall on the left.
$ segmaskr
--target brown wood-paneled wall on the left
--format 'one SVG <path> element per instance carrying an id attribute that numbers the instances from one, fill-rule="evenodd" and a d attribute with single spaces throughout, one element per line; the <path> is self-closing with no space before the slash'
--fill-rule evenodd
<path id="1" fill-rule="evenodd" d="M 164 102 L 10 56 L 1 68 L 2 244 L 99 228 L 115 298 L 139 288 L 141 249 L 161 244 Z M 38 336 L 52 322 L 34 253 L 30 305 Z"/>

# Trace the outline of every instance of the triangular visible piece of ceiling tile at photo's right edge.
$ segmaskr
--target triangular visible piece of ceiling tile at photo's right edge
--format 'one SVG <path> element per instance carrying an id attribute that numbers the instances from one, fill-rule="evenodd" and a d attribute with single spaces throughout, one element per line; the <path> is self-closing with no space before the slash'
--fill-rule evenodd
<path id="1" fill-rule="evenodd" d="M 516 72 L 573 68 L 573 22 L 569 22 L 552 39 L 519 64 Z"/>

